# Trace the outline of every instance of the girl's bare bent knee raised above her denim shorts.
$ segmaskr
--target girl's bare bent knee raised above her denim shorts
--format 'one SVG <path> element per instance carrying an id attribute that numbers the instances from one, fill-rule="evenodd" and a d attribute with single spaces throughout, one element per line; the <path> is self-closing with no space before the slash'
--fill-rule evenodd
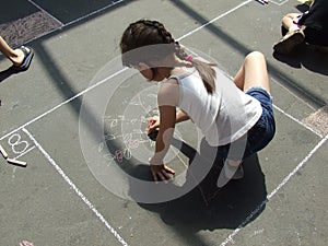
<path id="1" fill-rule="evenodd" d="M 239 71 L 235 75 L 234 82 L 242 91 L 259 86 L 270 92 L 265 56 L 259 51 L 248 54 Z"/>

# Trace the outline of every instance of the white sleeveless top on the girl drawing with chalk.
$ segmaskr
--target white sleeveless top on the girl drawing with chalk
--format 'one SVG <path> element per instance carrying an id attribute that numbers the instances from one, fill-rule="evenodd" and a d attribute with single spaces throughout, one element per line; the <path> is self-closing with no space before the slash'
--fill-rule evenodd
<path id="1" fill-rule="evenodd" d="M 179 84 L 178 107 L 201 130 L 212 147 L 224 145 L 243 137 L 260 118 L 260 103 L 241 91 L 219 68 L 215 91 L 209 94 L 197 70 L 171 75 Z"/>

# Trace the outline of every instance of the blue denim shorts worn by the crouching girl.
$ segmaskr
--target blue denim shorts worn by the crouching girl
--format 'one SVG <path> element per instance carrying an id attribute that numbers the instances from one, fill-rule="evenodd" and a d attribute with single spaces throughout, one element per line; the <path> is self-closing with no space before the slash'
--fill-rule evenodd
<path id="1" fill-rule="evenodd" d="M 231 145 L 242 145 L 244 154 L 238 154 L 243 156 L 243 160 L 247 156 L 262 150 L 272 139 L 276 132 L 276 121 L 272 109 L 272 98 L 270 94 L 262 87 L 251 87 L 246 94 L 258 99 L 262 107 L 262 115 L 259 120 L 248 130 L 247 134 L 236 140 L 233 143 L 226 145 L 218 147 L 218 155 L 222 159 L 231 156 L 233 151 L 230 151 Z M 247 138 L 247 139 L 246 139 Z M 239 143 L 238 143 L 239 142 Z M 241 157 L 235 157 L 241 160 Z"/>

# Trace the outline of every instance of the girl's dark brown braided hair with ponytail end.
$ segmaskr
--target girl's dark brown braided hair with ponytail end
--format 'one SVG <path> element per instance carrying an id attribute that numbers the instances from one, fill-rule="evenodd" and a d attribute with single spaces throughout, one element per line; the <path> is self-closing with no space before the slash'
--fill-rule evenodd
<path id="1" fill-rule="evenodd" d="M 156 45 L 165 45 L 159 49 Z M 129 51 L 138 50 L 139 48 L 148 47 L 147 52 L 130 55 Z M 151 47 L 153 47 L 153 51 Z M 122 65 L 127 67 L 138 66 L 139 62 L 145 62 L 162 59 L 169 54 L 175 54 L 179 59 L 186 60 L 188 54 L 176 42 L 172 34 L 157 21 L 140 20 L 131 23 L 124 32 L 120 40 L 120 49 L 122 54 Z M 212 68 L 214 65 L 203 62 L 199 59 L 188 59 L 198 70 L 203 85 L 208 93 L 212 94 L 215 91 L 215 71 Z"/>

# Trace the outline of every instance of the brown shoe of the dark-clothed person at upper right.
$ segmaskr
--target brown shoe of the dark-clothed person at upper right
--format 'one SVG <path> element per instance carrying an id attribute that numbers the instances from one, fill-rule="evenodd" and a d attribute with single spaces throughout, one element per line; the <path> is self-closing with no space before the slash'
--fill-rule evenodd
<path id="1" fill-rule="evenodd" d="M 289 32 L 283 36 L 282 39 L 274 44 L 273 49 L 279 54 L 288 55 L 293 50 L 295 46 L 302 44 L 304 39 L 305 36 L 302 30 Z"/>

